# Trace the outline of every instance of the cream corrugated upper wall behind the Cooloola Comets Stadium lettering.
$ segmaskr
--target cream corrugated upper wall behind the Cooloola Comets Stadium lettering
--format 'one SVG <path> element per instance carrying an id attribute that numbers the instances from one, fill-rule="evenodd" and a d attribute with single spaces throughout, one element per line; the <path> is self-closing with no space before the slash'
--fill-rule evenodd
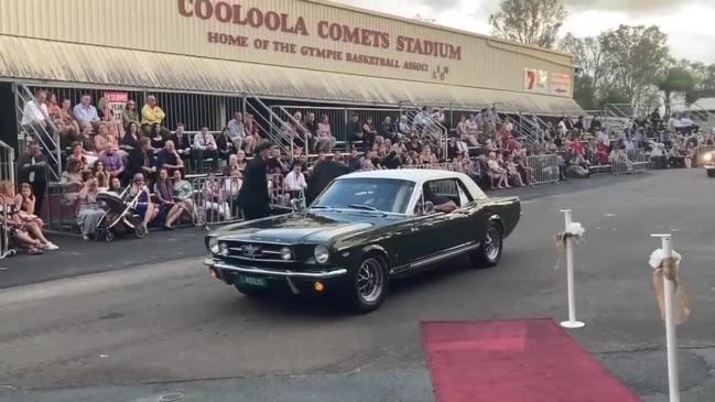
<path id="1" fill-rule="evenodd" d="M 572 74 L 566 55 L 509 45 L 480 36 L 408 23 L 366 12 L 304 0 L 246 0 L 243 10 L 257 7 L 263 11 L 277 10 L 289 14 L 289 25 L 303 17 L 308 35 L 253 29 L 221 23 L 215 18 L 202 20 L 180 14 L 178 6 L 185 1 L 192 7 L 199 0 L 2 0 L 0 1 L 0 34 L 36 39 L 115 46 L 151 52 L 204 56 L 231 61 L 273 64 L 307 69 L 329 70 L 378 77 L 433 83 L 432 70 L 448 67 L 445 84 L 522 91 L 524 68 Z M 208 0 L 203 0 L 208 1 Z M 217 0 L 210 0 L 212 4 Z M 227 0 L 238 4 L 236 0 Z M 193 12 L 193 11 L 192 11 Z M 384 31 L 390 34 L 388 50 L 345 44 L 318 36 L 319 21 L 329 21 L 351 28 Z M 207 33 L 218 32 L 246 35 L 248 47 L 208 43 Z M 418 55 L 396 50 L 397 36 L 412 36 L 462 46 L 462 61 Z M 299 54 L 256 50 L 256 39 L 291 42 Z M 429 72 L 379 67 L 346 61 L 319 59 L 300 54 L 303 45 L 353 52 L 386 58 L 426 63 Z M 122 74 L 131 74 L 124 72 Z M 121 77 L 118 77 L 121 78 Z M 440 82 L 437 79 L 437 82 Z M 570 95 L 570 94 L 568 94 Z"/>

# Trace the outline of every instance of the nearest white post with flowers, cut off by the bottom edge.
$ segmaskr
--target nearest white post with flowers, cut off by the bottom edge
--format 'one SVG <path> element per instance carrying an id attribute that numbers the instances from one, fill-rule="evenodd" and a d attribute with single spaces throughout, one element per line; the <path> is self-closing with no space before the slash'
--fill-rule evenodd
<path id="1" fill-rule="evenodd" d="M 650 235 L 658 237 L 662 242 L 665 258 L 673 257 L 672 235 Z M 665 345 L 668 349 L 668 393 L 670 402 L 680 402 L 680 379 L 678 376 L 678 337 L 675 335 L 675 320 L 673 319 L 673 298 L 675 284 L 663 275 L 663 309 L 665 309 Z"/>

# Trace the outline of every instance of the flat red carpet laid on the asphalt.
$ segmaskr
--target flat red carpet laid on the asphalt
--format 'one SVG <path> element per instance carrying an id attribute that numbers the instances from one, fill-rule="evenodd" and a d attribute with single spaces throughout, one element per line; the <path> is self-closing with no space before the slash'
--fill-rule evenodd
<path id="1" fill-rule="evenodd" d="M 551 319 L 424 322 L 437 402 L 640 401 Z"/>

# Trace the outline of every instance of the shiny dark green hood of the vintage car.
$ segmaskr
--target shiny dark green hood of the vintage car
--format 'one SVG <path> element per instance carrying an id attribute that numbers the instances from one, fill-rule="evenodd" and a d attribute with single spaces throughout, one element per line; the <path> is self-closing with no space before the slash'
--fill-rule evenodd
<path id="1" fill-rule="evenodd" d="M 227 240 L 280 243 L 328 243 L 389 225 L 396 218 L 348 211 L 293 213 L 230 225 L 215 236 Z"/>

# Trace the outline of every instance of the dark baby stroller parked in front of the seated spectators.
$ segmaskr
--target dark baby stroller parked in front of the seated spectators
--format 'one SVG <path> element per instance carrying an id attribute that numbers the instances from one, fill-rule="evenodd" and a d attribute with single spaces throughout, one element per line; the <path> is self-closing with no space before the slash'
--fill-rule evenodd
<path id="1" fill-rule="evenodd" d="M 119 233 L 134 232 L 138 239 L 147 237 L 147 229 L 142 226 L 141 216 L 137 213 L 140 197 L 143 192 L 139 192 L 132 199 L 127 199 L 129 188 L 120 196 L 115 193 L 99 193 L 97 204 L 105 209 L 105 215 L 97 222 L 95 230 L 97 241 L 105 240 L 112 242 Z"/>

